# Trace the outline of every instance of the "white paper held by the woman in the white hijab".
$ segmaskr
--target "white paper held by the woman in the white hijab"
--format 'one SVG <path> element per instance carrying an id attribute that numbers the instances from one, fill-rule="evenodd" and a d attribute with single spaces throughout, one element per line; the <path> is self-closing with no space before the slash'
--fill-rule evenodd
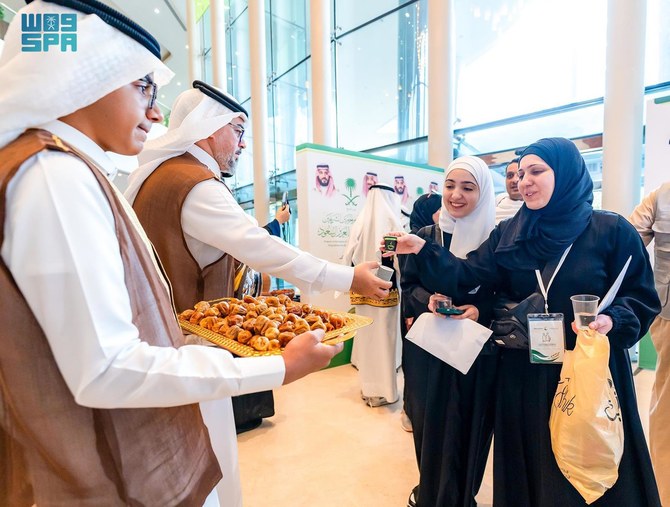
<path id="1" fill-rule="evenodd" d="M 407 339 L 465 375 L 491 332 L 470 319 L 442 319 L 422 313 L 407 333 Z"/>

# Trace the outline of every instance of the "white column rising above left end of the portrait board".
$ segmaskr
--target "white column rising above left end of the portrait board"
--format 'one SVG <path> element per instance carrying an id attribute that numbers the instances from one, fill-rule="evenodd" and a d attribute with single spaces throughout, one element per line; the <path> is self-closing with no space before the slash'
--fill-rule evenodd
<path id="1" fill-rule="evenodd" d="M 312 140 L 316 144 L 335 146 L 330 4 L 330 0 L 310 2 Z"/>

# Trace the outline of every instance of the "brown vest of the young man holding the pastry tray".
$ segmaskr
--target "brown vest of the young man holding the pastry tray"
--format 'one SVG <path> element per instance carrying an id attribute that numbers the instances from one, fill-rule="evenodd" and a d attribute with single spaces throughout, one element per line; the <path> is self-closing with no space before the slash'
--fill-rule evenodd
<path id="1" fill-rule="evenodd" d="M 35 130 L 0 150 L 0 245 L 7 184 L 25 160 L 45 149 L 74 152 L 56 136 Z M 87 164 L 114 215 L 140 338 L 179 347 L 183 336 L 151 253 L 111 184 Z M 198 405 L 113 410 L 78 405 L 2 259 L 0 291 L 0 504 L 202 505 L 221 472 Z"/>

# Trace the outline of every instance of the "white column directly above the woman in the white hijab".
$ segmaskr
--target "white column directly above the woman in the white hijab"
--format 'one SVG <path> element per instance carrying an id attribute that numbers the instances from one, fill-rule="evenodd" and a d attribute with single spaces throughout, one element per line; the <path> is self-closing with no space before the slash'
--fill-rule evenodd
<path id="1" fill-rule="evenodd" d="M 453 159 L 456 68 L 454 0 L 428 0 L 428 163 Z"/>

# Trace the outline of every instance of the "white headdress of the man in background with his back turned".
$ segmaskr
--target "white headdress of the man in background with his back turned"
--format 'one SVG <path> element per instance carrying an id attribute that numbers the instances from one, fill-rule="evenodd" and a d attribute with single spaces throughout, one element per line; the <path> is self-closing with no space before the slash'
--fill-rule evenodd
<path id="1" fill-rule="evenodd" d="M 368 191 L 363 210 L 349 231 L 344 264 L 378 260 L 379 242 L 389 231 L 402 230 L 400 196 L 393 187 L 375 185 Z"/>

